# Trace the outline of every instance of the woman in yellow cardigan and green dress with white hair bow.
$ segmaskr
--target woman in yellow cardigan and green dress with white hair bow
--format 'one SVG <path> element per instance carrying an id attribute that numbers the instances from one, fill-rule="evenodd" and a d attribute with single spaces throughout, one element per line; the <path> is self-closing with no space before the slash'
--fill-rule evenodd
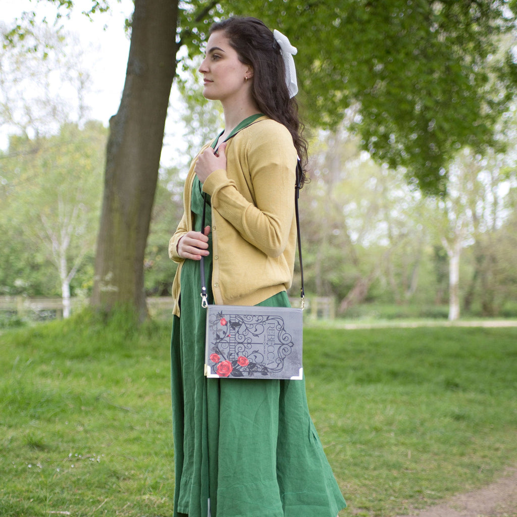
<path id="1" fill-rule="evenodd" d="M 199 71 L 224 131 L 193 160 L 169 244 L 173 284 L 174 516 L 336 517 L 344 499 L 307 408 L 303 381 L 204 377 L 209 303 L 288 306 L 300 136 L 287 38 L 254 18 L 216 23 Z M 287 63 L 285 65 L 284 63 Z M 204 203 L 206 224 L 201 226 Z"/>

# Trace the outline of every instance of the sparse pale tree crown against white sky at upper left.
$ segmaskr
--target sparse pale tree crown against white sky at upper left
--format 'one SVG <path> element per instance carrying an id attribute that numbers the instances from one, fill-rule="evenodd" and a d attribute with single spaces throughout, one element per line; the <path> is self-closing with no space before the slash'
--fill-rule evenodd
<path id="1" fill-rule="evenodd" d="M 22 29 L 20 29 L 22 30 Z M 0 24 L 0 125 L 29 139 L 56 134 L 66 123 L 88 117 L 84 94 L 90 82 L 82 50 L 72 34 L 28 24 L 17 44 L 7 44 Z M 11 36 L 12 37 L 12 36 Z"/>

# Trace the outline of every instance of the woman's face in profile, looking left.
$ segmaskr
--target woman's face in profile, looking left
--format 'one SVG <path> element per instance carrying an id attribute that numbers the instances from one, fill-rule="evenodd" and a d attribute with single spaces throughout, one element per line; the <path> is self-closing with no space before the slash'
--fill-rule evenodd
<path id="1" fill-rule="evenodd" d="M 203 96 L 207 99 L 239 102 L 250 95 L 253 69 L 240 62 L 223 31 L 216 31 L 208 38 L 199 71 L 204 77 Z"/>

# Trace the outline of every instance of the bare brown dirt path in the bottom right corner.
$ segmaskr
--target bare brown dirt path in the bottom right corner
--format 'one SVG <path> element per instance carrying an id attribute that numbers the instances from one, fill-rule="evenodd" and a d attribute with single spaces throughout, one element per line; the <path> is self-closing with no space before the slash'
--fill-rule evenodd
<path id="1" fill-rule="evenodd" d="M 415 517 L 517 517 L 517 468 L 507 469 L 503 477 L 485 488 L 455 495 L 445 503 L 426 510 L 409 512 L 407 515 Z"/>

